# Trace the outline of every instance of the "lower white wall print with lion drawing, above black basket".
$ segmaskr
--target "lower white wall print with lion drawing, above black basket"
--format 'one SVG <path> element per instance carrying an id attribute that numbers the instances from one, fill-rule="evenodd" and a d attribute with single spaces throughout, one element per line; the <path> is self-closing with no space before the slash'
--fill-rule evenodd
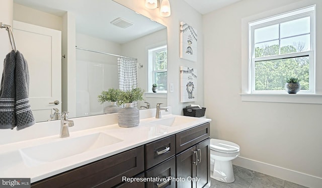
<path id="1" fill-rule="evenodd" d="M 180 102 L 194 102 L 197 100 L 197 70 L 180 66 Z"/>

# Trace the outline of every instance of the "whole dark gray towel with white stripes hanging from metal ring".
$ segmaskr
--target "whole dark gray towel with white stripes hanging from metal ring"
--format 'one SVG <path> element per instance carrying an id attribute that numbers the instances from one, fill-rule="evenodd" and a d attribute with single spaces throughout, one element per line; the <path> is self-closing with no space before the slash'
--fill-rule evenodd
<path id="1" fill-rule="evenodd" d="M 24 56 L 11 51 L 4 62 L 0 89 L 0 129 L 17 130 L 35 124 L 29 104 L 29 72 Z"/>

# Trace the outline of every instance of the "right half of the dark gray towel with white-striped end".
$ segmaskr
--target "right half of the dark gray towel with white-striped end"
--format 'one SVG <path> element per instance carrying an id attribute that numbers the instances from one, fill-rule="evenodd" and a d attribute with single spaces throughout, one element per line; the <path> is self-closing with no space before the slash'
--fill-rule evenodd
<path id="1" fill-rule="evenodd" d="M 29 71 L 28 64 L 24 56 L 16 53 L 16 126 L 17 130 L 34 125 L 35 119 L 29 104 Z"/>

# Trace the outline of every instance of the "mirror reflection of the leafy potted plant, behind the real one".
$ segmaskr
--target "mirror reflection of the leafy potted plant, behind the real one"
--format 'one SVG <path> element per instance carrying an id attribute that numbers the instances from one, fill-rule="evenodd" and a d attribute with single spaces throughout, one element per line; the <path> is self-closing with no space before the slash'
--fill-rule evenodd
<path id="1" fill-rule="evenodd" d="M 107 91 L 102 91 L 101 95 L 98 96 L 98 101 L 101 104 L 105 102 L 111 102 L 111 104 L 104 108 L 104 114 L 118 113 L 119 107 L 116 103 L 119 101 L 119 96 L 121 94 L 120 89 L 109 88 Z"/>

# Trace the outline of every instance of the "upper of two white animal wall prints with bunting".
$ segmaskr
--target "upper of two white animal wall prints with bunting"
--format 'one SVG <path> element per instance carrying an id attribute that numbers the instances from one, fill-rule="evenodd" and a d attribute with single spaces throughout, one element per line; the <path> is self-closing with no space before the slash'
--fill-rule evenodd
<path id="1" fill-rule="evenodd" d="M 197 30 L 180 22 L 180 58 L 197 61 Z"/>

